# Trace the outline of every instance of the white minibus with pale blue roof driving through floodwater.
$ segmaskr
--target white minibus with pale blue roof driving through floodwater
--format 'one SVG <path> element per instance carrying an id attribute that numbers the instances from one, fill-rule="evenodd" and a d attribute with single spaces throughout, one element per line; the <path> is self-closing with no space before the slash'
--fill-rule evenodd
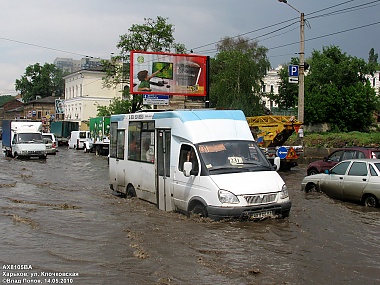
<path id="1" fill-rule="evenodd" d="M 214 220 L 287 217 L 286 185 L 242 111 L 111 116 L 110 188 L 165 211 Z"/>

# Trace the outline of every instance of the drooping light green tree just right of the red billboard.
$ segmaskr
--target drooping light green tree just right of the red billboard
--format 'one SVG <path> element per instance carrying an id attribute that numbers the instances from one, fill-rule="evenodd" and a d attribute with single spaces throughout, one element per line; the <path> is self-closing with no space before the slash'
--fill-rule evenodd
<path id="1" fill-rule="evenodd" d="M 267 49 L 242 37 L 226 37 L 210 64 L 211 107 L 241 109 L 246 116 L 263 113 L 261 79 L 270 67 Z"/>

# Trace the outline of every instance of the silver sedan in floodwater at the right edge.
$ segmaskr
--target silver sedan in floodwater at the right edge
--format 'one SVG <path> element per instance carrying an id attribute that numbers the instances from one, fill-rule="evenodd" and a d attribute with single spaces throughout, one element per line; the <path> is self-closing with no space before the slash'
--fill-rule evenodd
<path id="1" fill-rule="evenodd" d="M 305 192 L 320 191 L 344 201 L 378 207 L 380 201 L 380 159 L 349 159 L 326 173 L 306 176 L 301 182 Z"/>

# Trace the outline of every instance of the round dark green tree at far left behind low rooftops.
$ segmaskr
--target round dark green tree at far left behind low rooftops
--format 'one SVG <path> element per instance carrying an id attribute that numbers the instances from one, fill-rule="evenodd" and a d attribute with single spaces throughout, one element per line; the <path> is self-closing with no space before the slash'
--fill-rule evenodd
<path id="1" fill-rule="evenodd" d="M 15 84 L 24 102 L 34 100 L 37 95 L 42 98 L 53 94 L 62 96 L 64 86 L 62 70 L 49 63 L 43 66 L 39 63 L 29 65 L 21 79 L 16 79 Z"/>

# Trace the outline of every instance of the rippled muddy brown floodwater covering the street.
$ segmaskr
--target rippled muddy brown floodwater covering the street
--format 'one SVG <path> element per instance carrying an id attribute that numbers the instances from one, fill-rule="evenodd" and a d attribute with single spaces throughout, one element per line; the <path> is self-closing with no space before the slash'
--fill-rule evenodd
<path id="1" fill-rule="evenodd" d="M 280 172 L 289 218 L 212 222 L 114 195 L 106 157 L 0 156 L 0 284 L 380 284 L 380 210 L 301 192 L 305 169 Z"/>

